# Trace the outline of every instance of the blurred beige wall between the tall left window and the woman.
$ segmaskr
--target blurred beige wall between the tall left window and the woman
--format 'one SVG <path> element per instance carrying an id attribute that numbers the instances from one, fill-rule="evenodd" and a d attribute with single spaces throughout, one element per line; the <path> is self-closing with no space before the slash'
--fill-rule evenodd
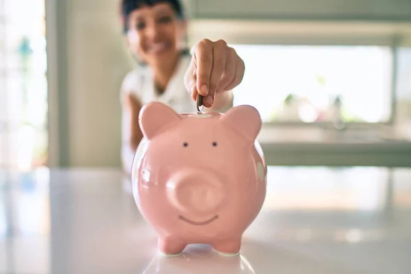
<path id="1" fill-rule="evenodd" d="M 132 68 L 116 1 L 47 0 L 51 166 L 120 166 L 119 88 Z"/>

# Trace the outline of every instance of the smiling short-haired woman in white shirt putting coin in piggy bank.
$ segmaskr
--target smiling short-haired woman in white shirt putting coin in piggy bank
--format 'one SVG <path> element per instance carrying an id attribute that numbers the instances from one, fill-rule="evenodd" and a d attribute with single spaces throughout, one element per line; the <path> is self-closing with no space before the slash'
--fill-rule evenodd
<path id="1" fill-rule="evenodd" d="M 186 20 L 179 0 L 122 0 L 121 16 L 127 46 L 140 62 L 121 86 L 122 160 L 131 172 L 142 139 L 138 114 L 142 105 L 161 101 L 176 112 L 225 112 L 232 106 L 232 88 L 242 81 L 244 62 L 223 40 L 201 40 L 192 55 L 184 48 Z"/>

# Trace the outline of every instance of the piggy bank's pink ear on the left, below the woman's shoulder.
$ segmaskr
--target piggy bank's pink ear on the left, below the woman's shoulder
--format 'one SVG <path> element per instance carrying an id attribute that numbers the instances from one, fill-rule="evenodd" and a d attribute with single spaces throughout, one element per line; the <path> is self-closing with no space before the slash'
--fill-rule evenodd
<path id="1" fill-rule="evenodd" d="M 180 120 L 180 116 L 172 108 L 155 101 L 144 105 L 138 115 L 141 132 L 149 140 Z"/>

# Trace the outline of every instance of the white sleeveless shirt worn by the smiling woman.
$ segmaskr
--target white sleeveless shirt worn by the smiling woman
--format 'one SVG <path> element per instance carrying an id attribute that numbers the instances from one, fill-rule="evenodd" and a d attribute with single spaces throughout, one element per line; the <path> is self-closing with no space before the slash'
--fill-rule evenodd
<path id="1" fill-rule="evenodd" d="M 177 113 L 197 112 L 196 102 L 192 100 L 190 93 L 184 86 L 184 74 L 190 65 L 190 61 L 191 55 L 183 55 L 179 59 L 177 69 L 173 77 L 171 77 L 166 90 L 161 95 L 155 90 L 153 73 L 149 66 L 138 67 L 138 69 L 130 71 L 123 79 L 123 84 L 121 85 L 121 102 L 123 102 L 125 95 L 132 93 L 142 105 L 151 101 L 160 101 L 169 105 Z M 128 143 L 130 119 L 129 113 L 123 112 L 121 157 L 125 169 L 131 172 L 135 151 L 132 151 Z"/>

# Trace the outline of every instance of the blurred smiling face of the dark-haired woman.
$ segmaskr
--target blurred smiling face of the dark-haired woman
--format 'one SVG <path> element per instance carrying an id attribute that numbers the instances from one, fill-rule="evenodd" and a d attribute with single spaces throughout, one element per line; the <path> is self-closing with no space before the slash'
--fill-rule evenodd
<path id="1" fill-rule="evenodd" d="M 129 14 L 127 41 L 143 62 L 161 65 L 177 53 L 183 23 L 169 3 L 144 6 Z"/>

